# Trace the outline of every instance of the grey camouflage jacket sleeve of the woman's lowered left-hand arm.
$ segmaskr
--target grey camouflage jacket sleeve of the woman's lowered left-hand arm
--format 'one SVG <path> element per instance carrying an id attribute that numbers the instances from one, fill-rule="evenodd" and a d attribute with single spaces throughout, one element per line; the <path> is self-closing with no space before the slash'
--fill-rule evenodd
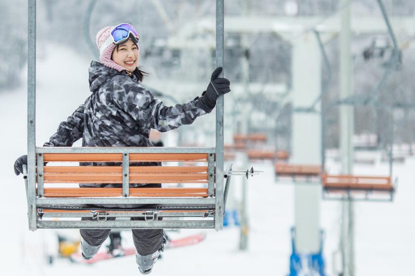
<path id="1" fill-rule="evenodd" d="M 56 133 L 43 146 L 72 146 L 75 141 L 82 138 L 84 110 L 85 104 L 81 104 L 66 121 L 59 124 Z"/>

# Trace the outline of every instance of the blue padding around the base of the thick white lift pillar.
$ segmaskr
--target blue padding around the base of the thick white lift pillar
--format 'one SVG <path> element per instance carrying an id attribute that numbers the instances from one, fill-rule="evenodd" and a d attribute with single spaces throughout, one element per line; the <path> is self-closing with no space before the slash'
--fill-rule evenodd
<path id="1" fill-rule="evenodd" d="M 323 259 L 323 231 L 321 231 L 320 250 L 317 253 L 299 254 L 295 250 L 294 228 L 291 228 L 290 275 L 289 276 L 326 276 Z"/>

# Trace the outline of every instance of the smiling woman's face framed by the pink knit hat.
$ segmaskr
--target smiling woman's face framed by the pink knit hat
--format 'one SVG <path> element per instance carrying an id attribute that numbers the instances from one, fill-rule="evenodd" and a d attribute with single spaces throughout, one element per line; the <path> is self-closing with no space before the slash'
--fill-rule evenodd
<path id="1" fill-rule="evenodd" d="M 121 65 L 130 72 L 137 68 L 139 58 L 138 47 L 131 39 L 115 47 L 111 56 L 111 59 L 116 64 Z"/>

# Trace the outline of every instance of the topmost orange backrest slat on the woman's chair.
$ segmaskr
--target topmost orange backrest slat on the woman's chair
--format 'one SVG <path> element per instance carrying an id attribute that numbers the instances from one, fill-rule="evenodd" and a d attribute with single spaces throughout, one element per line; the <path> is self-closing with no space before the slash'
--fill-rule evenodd
<path id="1" fill-rule="evenodd" d="M 122 162 L 122 153 L 45 153 L 44 162 Z M 130 153 L 129 162 L 207 161 L 207 153 Z"/>

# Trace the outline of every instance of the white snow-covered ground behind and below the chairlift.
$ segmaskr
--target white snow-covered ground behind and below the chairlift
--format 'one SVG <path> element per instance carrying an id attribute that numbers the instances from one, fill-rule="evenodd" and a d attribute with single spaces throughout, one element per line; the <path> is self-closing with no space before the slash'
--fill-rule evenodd
<path id="1" fill-rule="evenodd" d="M 72 113 L 88 96 L 87 69 L 89 61 L 65 48 L 54 47 L 47 59 L 38 61 L 37 144 L 42 145 L 54 133 L 58 123 Z M 69 57 L 69 58 L 67 58 Z M 59 61 L 59 65 L 56 62 Z M 62 68 L 62 64 L 65 66 Z M 30 232 L 27 227 L 26 199 L 22 177 L 14 175 L 14 160 L 26 152 L 26 87 L 12 93 L 1 93 L 0 159 L 2 219 L 0 237 L 1 275 L 99 276 L 139 275 L 134 257 L 124 257 L 81 265 L 57 259 L 48 265 L 44 256 L 54 230 Z M 379 154 L 374 165 L 356 165 L 356 173 L 387 174 L 386 163 Z M 249 246 L 239 251 L 239 229 L 182 230 L 174 236 L 206 232 L 207 238 L 197 245 L 169 249 L 156 264 L 151 275 L 278 275 L 289 273 L 291 253 L 290 228 L 294 223 L 293 186 L 276 183 L 271 163 L 253 163 L 264 171 L 249 179 Z M 332 172 L 338 164 L 329 162 Z M 355 256 L 357 276 L 415 275 L 415 159 L 396 164 L 393 176 L 399 178 L 395 199 L 391 203 L 362 202 L 355 204 Z M 233 182 L 238 186 L 240 180 Z M 235 192 L 239 194 L 236 187 Z M 238 196 L 236 196 L 238 197 Z M 340 204 L 321 204 L 321 227 L 326 233 L 324 257 L 327 274 L 332 274 L 332 255 L 338 248 Z M 77 236 L 76 230 L 65 230 Z M 123 233 L 131 246 L 130 233 Z M 52 244 L 53 245 L 53 244 Z"/>

